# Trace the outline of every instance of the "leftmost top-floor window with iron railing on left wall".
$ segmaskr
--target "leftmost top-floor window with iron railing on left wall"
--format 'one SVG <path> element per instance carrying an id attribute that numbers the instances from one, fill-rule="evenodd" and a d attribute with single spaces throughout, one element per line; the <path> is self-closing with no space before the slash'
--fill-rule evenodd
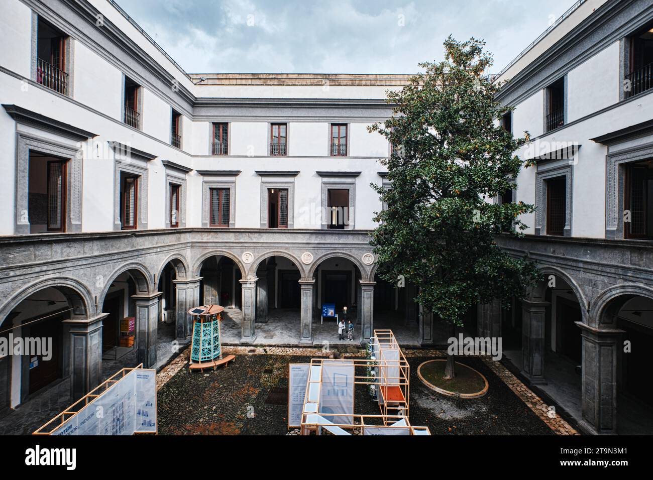
<path id="1" fill-rule="evenodd" d="M 37 83 L 68 95 L 66 72 L 68 36 L 39 17 L 37 24 Z"/>

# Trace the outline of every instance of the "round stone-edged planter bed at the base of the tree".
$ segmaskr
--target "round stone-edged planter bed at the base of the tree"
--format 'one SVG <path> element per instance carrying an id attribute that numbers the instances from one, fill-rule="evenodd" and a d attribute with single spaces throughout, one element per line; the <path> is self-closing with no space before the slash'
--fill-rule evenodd
<path id="1" fill-rule="evenodd" d="M 465 364 L 456 362 L 456 377 L 445 380 L 447 360 L 427 360 L 417 367 L 417 376 L 426 387 L 446 396 L 457 398 L 477 398 L 488 391 L 487 379 Z"/>

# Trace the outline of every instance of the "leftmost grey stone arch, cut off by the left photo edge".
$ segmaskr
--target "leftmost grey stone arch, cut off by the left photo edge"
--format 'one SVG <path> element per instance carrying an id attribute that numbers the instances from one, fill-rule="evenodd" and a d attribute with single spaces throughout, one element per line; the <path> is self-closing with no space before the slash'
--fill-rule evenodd
<path id="1" fill-rule="evenodd" d="M 46 288 L 55 288 L 68 300 L 73 308 L 73 315 L 83 315 L 89 318 L 94 312 L 93 296 L 89 289 L 78 280 L 69 277 L 54 277 L 46 280 L 39 280 L 27 285 L 12 296 L 2 308 L 0 308 L 0 325 L 7 316 L 16 308 L 20 302 L 30 295 Z"/>

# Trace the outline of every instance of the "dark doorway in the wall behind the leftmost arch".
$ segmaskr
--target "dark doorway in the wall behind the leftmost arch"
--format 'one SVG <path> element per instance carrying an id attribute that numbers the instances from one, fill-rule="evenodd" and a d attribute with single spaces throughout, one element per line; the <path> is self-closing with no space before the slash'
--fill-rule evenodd
<path id="1" fill-rule="evenodd" d="M 61 321 L 64 319 L 62 313 L 50 317 L 46 321 L 30 325 L 29 336 L 31 338 L 52 338 L 52 352 L 50 353 L 52 357 L 50 360 L 45 360 L 44 355 L 30 355 L 27 359 L 29 362 L 29 394 L 33 394 L 61 378 L 61 345 L 63 343 Z"/>

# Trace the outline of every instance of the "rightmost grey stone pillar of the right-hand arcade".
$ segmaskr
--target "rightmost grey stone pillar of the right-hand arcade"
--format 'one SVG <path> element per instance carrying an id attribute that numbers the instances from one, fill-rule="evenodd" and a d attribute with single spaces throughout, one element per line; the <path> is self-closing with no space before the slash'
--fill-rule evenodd
<path id="1" fill-rule="evenodd" d="M 576 325 L 582 335 L 580 426 L 587 432 L 616 434 L 616 366 L 624 330 Z"/>

